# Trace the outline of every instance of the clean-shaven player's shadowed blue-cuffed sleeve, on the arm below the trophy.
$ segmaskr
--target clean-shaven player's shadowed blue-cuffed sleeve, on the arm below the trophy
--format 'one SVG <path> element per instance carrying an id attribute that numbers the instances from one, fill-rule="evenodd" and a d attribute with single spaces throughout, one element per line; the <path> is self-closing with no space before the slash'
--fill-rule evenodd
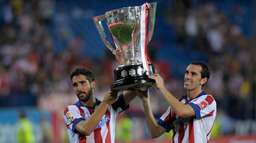
<path id="1" fill-rule="evenodd" d="M 157 121 L 157 124 L 163 126 L 166 129 L 166 132 L 171 130 L 171 107 L 167 109 L 167 111 L 161 116 L 161 118 Z"/>

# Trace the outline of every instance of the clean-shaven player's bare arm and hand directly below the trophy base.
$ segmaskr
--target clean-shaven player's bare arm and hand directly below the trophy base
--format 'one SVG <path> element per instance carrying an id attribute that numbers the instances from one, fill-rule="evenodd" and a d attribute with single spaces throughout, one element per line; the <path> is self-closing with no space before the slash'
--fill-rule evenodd
<path id="1" fill-rule="evenodd" d="M 141 90 L 136 90 L 136 91 L 137 91 L 137 95 L 143 102 L 145 118 L 146 118 L 148 130 L 149 130 L 149 134 L 151 138 L 157 138 L 161 136 L 164 132 L 166 132 L 166 129 L 156 123 L 156 118 L 154 117 L 151 106 L 150 106 L 149 87 L 147 87 L 146 91 L 141 91 Z"/>

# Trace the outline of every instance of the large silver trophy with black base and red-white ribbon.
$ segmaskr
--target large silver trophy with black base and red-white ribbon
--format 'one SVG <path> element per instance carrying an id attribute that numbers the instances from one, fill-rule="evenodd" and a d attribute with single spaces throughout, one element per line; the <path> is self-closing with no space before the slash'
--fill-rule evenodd
<path id="1" fill-rule="evenodd" d="M 154 31 L 155 14 L 156 3 L 145 3 L 139 7 L 119 8 L 92 17 L 107 48 L 117 54 L 119 53 L 116 49 L 122 50 L 125 57 L 126 64 L 114 70 L 112 90 L 125 90 L 131 87 L 139 89 L 156 82 L 147 77 L 155 73 L 154 66 L 147 56 L 147 44 Z M 109 44 L 102 27 L 101 21 L 105 20 L 116 49 Z"/>

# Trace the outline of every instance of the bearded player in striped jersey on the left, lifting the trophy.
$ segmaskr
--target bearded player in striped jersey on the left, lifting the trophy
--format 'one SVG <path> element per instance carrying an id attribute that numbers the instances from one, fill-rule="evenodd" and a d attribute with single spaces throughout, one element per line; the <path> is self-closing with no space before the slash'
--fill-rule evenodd
<path id="1" fill-rule="evenodd" d="M 70 78 L 79 99 L 76 104 L 64 109 L 70 142 L 114 143 L 116 117 L 129 108 L 129 103 L 137 94 L 124 91 L 118 96 L 118 91 L 109 89 L 100 101 L 93 94 L 96 82 L 90 70 L 77 68 L 71 72 Z"/>

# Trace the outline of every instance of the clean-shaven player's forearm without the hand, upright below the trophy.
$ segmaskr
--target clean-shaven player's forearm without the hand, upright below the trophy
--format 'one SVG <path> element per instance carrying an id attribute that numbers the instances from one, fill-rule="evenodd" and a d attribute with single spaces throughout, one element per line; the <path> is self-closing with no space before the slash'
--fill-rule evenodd
<path id="1" fill-rule="evenodd" d="M 159 125 L 156 123 L 156 119 L 152 113 L 150 102 L 149 101 L 143 102 L 143 106 L 144 106 L 145 118 L 147 122 L 147 128 L 149 130 L 149 134 L 151 138 L 157 138 L 163 133 L 159 131 Z"/>

